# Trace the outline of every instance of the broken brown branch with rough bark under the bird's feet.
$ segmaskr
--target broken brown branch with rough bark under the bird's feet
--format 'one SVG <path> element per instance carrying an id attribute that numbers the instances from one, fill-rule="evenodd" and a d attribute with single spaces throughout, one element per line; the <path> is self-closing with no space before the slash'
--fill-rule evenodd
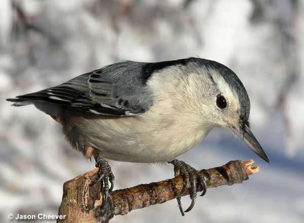
<path id="1" fill-rule="evenodd" d="M 201 170 L 200 174 L 207 177 L 208 188 L 242 183 L 248 179 L 248 175 L 259 171 L 259 167 L 253 166 L 253 163 L 253 160 L 230 161 L 221 167 Z M 112 191 L 106 204 L 107 211 L 103 213 L 100 210 L 101 184 L 96 183 L 90 187 L 97 172 L 98 169 L 95 168 L 64 183 L 59 214 L 65 215 L 65 219 L 58 219 L 58 222 L 108 222 L 114 215 L 127 214 L 132 210 L 162 204 L 189 194 L 190 184 L 186 185 L 186 190 L 182 193 L 181 176 L 140 184 L 133 188 Z M 200 186 L 197 189 L 202 191 Z"/>

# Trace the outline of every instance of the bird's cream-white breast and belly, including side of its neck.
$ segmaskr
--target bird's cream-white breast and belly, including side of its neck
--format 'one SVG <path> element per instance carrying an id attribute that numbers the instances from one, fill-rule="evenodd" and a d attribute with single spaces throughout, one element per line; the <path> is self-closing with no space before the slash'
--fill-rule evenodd
<path id="1" fill-rule="evenodd" d="M 187 99 L 193 92 L 185 88 L 187 77 L 176 72 L 164 75 L 148 82 L 155 94 L 155 103 L 148 112 L 86 120 L 86 126 L 91 128 L 89 143 L 99 148 L 104 158 L 147 163 L 171 161 L 197 145 L 212 129 L 198 112 L 200 101 Z"/>

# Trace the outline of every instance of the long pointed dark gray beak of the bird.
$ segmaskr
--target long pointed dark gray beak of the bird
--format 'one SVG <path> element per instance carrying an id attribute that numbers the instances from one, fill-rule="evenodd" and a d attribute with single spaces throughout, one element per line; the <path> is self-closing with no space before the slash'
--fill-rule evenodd
<path id="1" fill-rule="evenodd" d="M 241 138 L 251 150 L 256 153 L 260 158 L 262 158 L 266 162 L 270 162 L 267 155 L 263 151 L 262 146 L 259 144 L 257 139 L 254 137 L 253 133 L 251 132 L 249 126 L 245 123 L 241 124 L 239 128 L 233 127 L 232 131 Z"/>

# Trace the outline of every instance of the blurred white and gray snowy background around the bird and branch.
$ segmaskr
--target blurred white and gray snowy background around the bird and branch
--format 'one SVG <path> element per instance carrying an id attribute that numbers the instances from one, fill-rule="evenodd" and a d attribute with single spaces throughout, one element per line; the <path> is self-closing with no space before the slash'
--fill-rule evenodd
<path id="1" fill-rule="evenodd" d="M 208 190 L 185 217 L 173 200 L 110 222 L 304 222 L 303 0 L 1 0 L 0 222 L 12 222 L 9 213 L 57 214 L 63 182 L 94 167 L 49 116 L 11 107 L 6 98 L 121 60 L 190 56 L 237 73 L 251 99 L 252 130 L 271 163 L 214 130 L 180 159 L 198 169 L 255 159 L 260 172 Z M 110 165 L 116 189 L 173 176 L 166 164 Z M 189 202 L 182 198 L 184 209 Z"/>

